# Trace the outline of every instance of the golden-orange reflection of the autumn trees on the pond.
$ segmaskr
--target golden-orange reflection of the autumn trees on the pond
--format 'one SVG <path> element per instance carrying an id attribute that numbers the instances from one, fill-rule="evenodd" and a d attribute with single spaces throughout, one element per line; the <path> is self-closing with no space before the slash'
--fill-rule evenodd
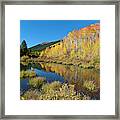
<path id="1" fill-rule="evenodd" d="M 82 69 L 73 65 L 62 65 L 55 63 L 39 63 L 41 68 L 47 72 L 55 72 L 64 77 L 64 80 L 70 84 L 83 83 L 84 81 L 93 81 L 99 87 L 100 73 L 95 69 Z"/>

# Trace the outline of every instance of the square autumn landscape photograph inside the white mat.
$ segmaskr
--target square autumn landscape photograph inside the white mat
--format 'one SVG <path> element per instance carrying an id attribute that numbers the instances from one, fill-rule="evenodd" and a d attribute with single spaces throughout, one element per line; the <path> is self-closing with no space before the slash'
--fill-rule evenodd
<path id="1" fill-rule="evenodd" d="M 20 100 L 100 100 L 100 20 L 20 20 Z"/>

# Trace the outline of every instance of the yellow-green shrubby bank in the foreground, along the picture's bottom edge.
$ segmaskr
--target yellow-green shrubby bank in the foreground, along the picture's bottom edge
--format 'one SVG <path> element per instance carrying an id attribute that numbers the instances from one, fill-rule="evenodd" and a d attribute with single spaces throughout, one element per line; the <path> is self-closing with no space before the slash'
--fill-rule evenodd
<path id="1" fill-rule="evenodd" d="M 36 77 L 29 81 L 31 89 L 26 91 L 20 98 L 21 100 L 90 100 L 90 96 L 81 95 L 75 91 L 74 84 L 60 83 L 54 81 L 52 83 L 45 82 L 42 77 Z M 98 88 L 92 81 L 85 81 L 84 88 L 88 92 L 96 92 Z"/>

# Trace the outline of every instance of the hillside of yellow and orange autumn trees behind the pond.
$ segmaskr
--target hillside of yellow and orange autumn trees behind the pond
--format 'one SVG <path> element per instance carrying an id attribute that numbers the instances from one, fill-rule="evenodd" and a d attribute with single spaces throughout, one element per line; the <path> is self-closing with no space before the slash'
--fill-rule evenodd
<path id="1" fill-rule="evenodd" d="M 100 65 L 100 25 L 91 24 L 79 30 L 73 30 L 62 41 L 46 47 L 40 61 L 80 65 L 84 68 Z"/>

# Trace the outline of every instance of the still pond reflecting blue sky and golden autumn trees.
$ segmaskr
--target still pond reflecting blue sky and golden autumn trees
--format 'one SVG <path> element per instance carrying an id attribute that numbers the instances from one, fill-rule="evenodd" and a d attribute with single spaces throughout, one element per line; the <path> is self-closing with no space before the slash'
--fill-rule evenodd
<path id="1" fill-rule="evenodd" d="M 28 64 L 20 66 L 21 70 L 34 70 L 37 76 L 45 77 L 46 81 L 60 81 L 61 83 L 74 84 L 75 91 L 81 94 L 89 94 L 91 99 L 100 99 L 100 71 L 95 69 L 83 69 L 74 65 L 63 65 L 56 63 Z M 29 79 L 20 80 L 21 94 L 29 89 Z M 92 92 L 91 86 L 96 90 Z"/>

